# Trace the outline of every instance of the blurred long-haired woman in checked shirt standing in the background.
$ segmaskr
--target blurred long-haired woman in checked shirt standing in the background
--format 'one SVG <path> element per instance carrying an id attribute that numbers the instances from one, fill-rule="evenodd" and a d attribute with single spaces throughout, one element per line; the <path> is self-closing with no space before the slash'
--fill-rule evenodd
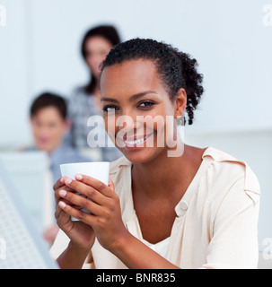
<path id="1" fill-rule="evenodd" d="M 100 144 L 99 147 L 93 149 L 87 142 L 88 134 L 92 130 L 91 126 L 87 126 L 88 118 L 102 115 L 99 89 L 100 65 L 110 49 L 118 43 L 120 43 L 118 31 L 112 26 L 97 26 L 85 33 L 81 52 L 91 77 L 89 83 L 76 88 L 69 99 L 71 132 L 67 136 L 67 142 L 94 161 L 114 161 L 121 156 L 114 144 L 108 147 L 107 143 L 110 138 L 104 126 L 97 126 L 97 129 L 99 133 L 102 133 L 101 135 L 105 136 L 105 146 Z"/>

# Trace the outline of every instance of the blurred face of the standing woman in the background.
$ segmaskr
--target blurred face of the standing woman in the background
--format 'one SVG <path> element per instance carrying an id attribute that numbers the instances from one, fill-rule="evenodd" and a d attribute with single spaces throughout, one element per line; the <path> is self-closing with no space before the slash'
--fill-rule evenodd
<path id="1" fill-rule="evenodd" d="M 89 66 L 92 75 L 96 79 L 99 78 L 101 73 L 101 62 L 108 55 L 111 48 L 112 45 L 110 44 L 110 41 L 101 36 L 93 36 L 92 38 L 87 39 L 85 42 L 85 61 Z"/>

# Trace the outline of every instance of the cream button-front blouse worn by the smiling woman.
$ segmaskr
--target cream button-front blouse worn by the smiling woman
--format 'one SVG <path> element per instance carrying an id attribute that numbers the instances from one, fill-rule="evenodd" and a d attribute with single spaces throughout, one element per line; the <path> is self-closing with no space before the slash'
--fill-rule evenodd
<path id="1" fill-rule="evenodd" d="M 209 147 L 186 193 L 176 205 L 166 259 L 180 268 L 257 268 L 259 181 L 244 161 Z M 125 157 L 111 163 L 110 178 L 119 196 L 123 222 L 144 241 L 131 193 L 132 163 Z M 69 239 L 60 231 L 51 255 L 57 258 Z M 92 247 L 95 268 L 127 268 L 118 257 Z M 144 257 L 145 255 L 143 255 Z"/>

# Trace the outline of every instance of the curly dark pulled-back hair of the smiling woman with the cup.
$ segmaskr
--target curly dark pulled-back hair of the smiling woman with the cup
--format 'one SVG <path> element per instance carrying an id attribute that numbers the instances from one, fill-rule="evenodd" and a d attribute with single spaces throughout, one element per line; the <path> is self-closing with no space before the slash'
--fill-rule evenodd
<path id="1" fill-rule="evenodd" d="M 170 94 L 171 100 L 183 88 L 187 93 L 187 113 L 189 125 L 193 123 L 194 110 L 203 94 L 203 75 L 197 73 L 197 60 L 189 54 L 179 52 L 163 42 L 154 39 L 130 39 L 118 44 L 101 65 L 101 71 L 107 66 L 121 64 L 136 59 L 149 59 L 154 61 L 162 83 Z"/>

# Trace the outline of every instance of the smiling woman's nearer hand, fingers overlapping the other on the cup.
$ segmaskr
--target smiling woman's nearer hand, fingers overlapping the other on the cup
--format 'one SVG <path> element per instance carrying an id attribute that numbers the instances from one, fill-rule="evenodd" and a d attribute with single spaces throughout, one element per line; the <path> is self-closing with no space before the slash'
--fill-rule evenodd
<path id="1" fill-rule="evenodd" d="M 58 196 L 63 200 L 58 202 L 58 206 L 66 214 L 65 218 L 71 215 L 80 220 L 82 224 L 89 226 L 94 230 L 101 246 L 113 251 L 123 235 L 127 234 L 113 182 L 110 179 L 109 186 L 107 186 L 101 181 L 85 175 L 77 175 L 75 179 L 64 179 L 68 188 L 59 190 Z M 83 196 L 75 194 L 72 190 Z M 91 214 L 75 208 L 75 205 L 83 207 Z M 62 222 L 66 222 L 66 220 Z M 68 222 L 68 225 L 70 227 L 71 222 Z"/>

